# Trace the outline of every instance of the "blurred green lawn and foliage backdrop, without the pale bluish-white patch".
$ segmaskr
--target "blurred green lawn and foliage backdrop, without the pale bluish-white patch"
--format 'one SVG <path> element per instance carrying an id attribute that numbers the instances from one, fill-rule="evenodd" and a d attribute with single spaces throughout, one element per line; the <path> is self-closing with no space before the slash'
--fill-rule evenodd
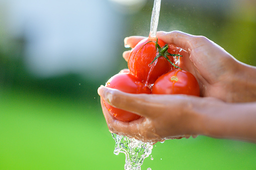
<path id="1" fill-rule="evenodd" d="M 121 42 L 148 35 L 152 6 L 148 1 L 138 13 L 123 15 L 127 27 Z M 256 66 L 255 7 L 254 1 L 233 1 L 224 10 L 219 4 L 202 9 L 162 1 L 158 30 L 206 36 L 239 61 Z M 0 169 L 123 169 L 125 156 L 113 153 L 115 141 L 97 94 L 101 84 L 127 68 L 123 44 L 114 46 L 119 56 L 109 77 L 92 81 L 75 74 L 32 76 L 22 58 L 24 43 L 14 40 L 15 51 L 0 51 Z M 206 136 L 156 143 L 151 156 L 142 169 L 256 168 L 255 144 Z"/>

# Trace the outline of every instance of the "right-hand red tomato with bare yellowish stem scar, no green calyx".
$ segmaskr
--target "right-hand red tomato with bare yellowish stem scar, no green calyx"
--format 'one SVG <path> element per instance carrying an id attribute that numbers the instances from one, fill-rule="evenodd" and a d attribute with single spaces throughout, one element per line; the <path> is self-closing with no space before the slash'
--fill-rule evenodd
<path id="1" fill-rule="evenodd" d="M 152 87 L 152 94 L 188 94 L 200 96 L 197 79 L 190 72 L 176 69 L 160 76 Z"/>

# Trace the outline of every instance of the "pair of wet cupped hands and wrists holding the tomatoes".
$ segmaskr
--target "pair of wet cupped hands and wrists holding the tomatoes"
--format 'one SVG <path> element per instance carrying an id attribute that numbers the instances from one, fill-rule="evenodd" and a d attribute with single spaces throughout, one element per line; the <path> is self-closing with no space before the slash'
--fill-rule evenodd
<path id="1" fill-rule="evenodd" d="M 256 142 L 256 68 L 202 36 L 175 31 L 157 37 L 184 49 L 179 66 L 197 78 L 201 97 L 129 94 L 101 86 L 101 100 L 143 116 L 118 121 L 102 105 L 110 131 L 153 143 L 190 135 Z M 125 45 L 133 48 L 142 39 L 126 38 Z M 129 53 L 124 52 L 125 60 Z"/>

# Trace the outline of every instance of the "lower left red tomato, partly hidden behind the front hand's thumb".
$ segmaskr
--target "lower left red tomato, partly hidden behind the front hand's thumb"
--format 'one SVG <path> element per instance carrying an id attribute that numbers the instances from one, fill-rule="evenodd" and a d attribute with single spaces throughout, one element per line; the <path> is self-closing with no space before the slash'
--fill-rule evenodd
<path id="1" fill-rule="evenodd" d="M 148 87 L 139 82 L 136 77 L 129 73 L 116 74 L 109 79 L 109 81 L 106 83 L 106 87 L 118 89 L 126 93 L 151 93 L 151 90 Z M 113 107 L 105 101 L 104 104 L 110 114 L 112 114 L 118 120 L 129 122 L 140 118 L 140 116 L 137 114 Z"/>

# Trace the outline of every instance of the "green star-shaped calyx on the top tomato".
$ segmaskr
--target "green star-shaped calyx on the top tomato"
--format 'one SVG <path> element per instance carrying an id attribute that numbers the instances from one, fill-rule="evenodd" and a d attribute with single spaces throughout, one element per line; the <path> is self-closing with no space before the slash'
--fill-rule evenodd
<path id="1" fill-rule="evenodd" d="M 165 44 L 162 48 L 159 46 L 158 44 L 158 39 L 156 38 L 156 42 L 155 41 L 149 41 L 147 43 L 150 43 L 150 42 L 154 42 L 155 43 L 155 50 L 158 50 L 158 54 L 155 56 L 154 60 L 149 64 L 152 65 L 153 62 L 158 59 L 159 57 L 164 57 L 170 64 L 172 64 L 172 66 L 174 66 L 175 68 L 177 69 L 181 69 L 180 67 L 176 66 L 172 61 L 170 61 L 170 59 L 167 57 L 167 56 L 173 56 L 173 57 L 182 57 L 182 55 L 179 55 L 179 54 L 170 54 L 168 53 L 168 44 Z M 147 44 L 146 43 L 146 44 Z M 144 44 L 141 48 L 143 48 L 146 44 Z"/>

